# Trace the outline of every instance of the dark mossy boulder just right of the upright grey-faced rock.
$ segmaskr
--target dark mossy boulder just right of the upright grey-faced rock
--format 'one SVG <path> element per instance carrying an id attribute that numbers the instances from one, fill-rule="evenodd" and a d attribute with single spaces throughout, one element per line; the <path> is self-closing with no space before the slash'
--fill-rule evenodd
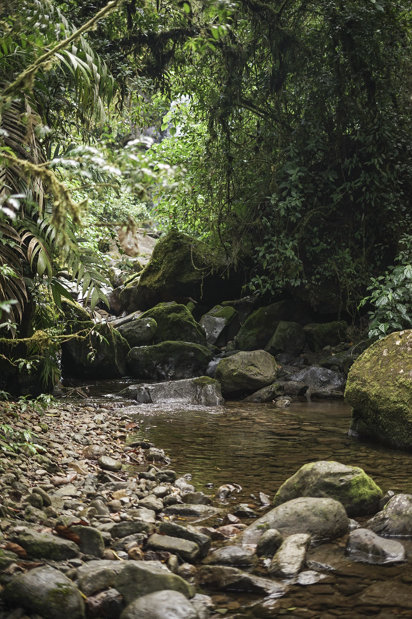
<path id="1" fill-rule="evenodd" d="M 279 326 L 280 321 L 306 324 L 311 312 L 296 301 L 279 301 L 256 309 L 246 318 L 237 335 L 239 350 L 259 350 L 264 348 Z"/>

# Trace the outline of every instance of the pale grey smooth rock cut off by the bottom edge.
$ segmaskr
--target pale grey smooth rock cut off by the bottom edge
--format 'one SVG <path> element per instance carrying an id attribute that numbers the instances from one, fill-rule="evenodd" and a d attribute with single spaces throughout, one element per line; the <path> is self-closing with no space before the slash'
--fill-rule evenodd
<path id="1" fill-rule="evenodd" d="M 193 605 L 178 591 L 156 591 L 129 604 L 120 619 L 200 619 Z"/>

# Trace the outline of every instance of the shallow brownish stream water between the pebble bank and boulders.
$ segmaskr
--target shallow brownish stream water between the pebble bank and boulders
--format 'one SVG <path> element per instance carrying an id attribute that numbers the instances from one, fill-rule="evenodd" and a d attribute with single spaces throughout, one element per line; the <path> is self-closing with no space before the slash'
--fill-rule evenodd
<path id="1" fill-rule="evenodd" d="M 90 400 L 100 405 L 120 402 L 116 393 L 124 386 L 124 381 L 96 383 L 90 387 Z M 259 501 L 254 499 L 259 492 L 272 499 L 277 488 L 301 465 L 326 459 L 363 468 L 384 493 L 412 493 L 412 454 L 349 437 L 351 411 L 341 401 L 294 400 L 288 409 L 240 402 L 227 402 L 217 408 L 133 406 L 125 402 L 124 408 L 139 422 L 137 436 L 164 449 L 172 459 L 170 467 L 178 475 L 190 473 L 190 483 L 196 490 L 213 495 L 214 489 L 206 484 L 217 488 L 222 483 L 236 483 L 242 487 L 223 504 L 214 500 L 225 511 L 242 502 L 261 515 Z M 345 538 L 313 548 L 309 560 L 329 563 L 334 571 L 327 572 L 327 578 L 319 584 L 292 586 L 285 598 L 272 600 L 281 608 L 255 608 L 254 612 L 259 617 L 285 614 L 321 619 L 412 617 L 412 543 L 402 543 L 409 560 L 400 566 L 349 561 L 344 554 Z M 362 592 L 374 583 L 375 598 L 369 595 L 365 601 Z M 250 596 L 226 597 L 229 602 L 222 601 L 222 608 L 235 602 L 240 604 L 241 613 L 245 613 L 245 606 L 253 604 Z M 232 615 L 234 610 L 229 608 L 227 612 Z"/>

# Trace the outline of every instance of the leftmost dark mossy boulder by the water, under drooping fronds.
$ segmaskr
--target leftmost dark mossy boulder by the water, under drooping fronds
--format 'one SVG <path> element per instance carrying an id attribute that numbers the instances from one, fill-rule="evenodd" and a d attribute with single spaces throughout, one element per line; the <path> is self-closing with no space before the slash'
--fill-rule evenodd
<path id="1" fill-rule="evenodd" d="M 130 346 L 117 329 L 91 321 L 78 322 L 69 335 L 72 334 L 78 337 L 62 344 L 64 377 L 120 378 L 125 375 Z"/>

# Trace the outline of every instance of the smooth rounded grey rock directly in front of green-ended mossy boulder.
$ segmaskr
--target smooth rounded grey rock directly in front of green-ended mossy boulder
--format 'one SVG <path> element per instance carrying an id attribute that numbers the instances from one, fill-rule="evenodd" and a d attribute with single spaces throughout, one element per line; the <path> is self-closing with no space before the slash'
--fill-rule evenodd
<path id="1" fill-rule="evenodd" d="M 271 509 L 237 537 L 243 544 L 258 543 L 267 529 L 277 529 L 283 537 L 307 533 L 315 543 L 340 537 L 348 530 L 348 516 L 341 503 L 329 498 L 300 497 Z"/>

